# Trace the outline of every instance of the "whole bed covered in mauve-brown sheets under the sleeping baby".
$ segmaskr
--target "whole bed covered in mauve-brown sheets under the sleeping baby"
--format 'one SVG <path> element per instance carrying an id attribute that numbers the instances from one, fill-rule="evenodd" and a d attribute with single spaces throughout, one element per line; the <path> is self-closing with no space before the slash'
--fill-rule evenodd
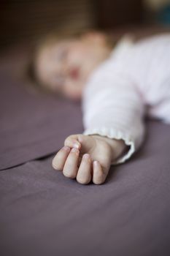
<path id="1" fill-rule="evenodd" d="M 83 131 L 81 104 L 23 86 L 27 58 L 11 49 L 0 65 L 1 256 L 169 256 L 169 125 L 146 120 L 144 145 L 105 184 L 65 178 L 51 161 Z"/>

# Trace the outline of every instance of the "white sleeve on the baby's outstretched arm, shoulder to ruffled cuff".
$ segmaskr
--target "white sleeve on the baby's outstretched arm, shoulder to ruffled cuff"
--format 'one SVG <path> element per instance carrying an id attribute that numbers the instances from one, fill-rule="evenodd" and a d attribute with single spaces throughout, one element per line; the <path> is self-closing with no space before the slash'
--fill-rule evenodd
<path id="1" fill-rule="evenodd" d="M 127 153 L 112 162 L 125 162 L 144 138 L 144 104 L 136 81 L 110 59 L 91 76 L 82 99 L 84 135 L 101 135 L 124 140 Z"/>

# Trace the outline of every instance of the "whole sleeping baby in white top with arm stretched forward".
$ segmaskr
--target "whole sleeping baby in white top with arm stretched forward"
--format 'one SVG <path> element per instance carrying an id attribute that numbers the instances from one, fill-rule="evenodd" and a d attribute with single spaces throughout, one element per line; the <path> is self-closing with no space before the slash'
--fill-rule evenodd
<path id="1" fill-rule="evenodd" d="M 110 165 L 139 149 L 144 116 L 170 123 L 170 34 L 115 48 L 99 32 L 50 40 L 36 52 L 34 74 L 43 88 L 82 100 L 84 132 L 66 138 L 53 159 L 80 184 L 103 184 Z"/>

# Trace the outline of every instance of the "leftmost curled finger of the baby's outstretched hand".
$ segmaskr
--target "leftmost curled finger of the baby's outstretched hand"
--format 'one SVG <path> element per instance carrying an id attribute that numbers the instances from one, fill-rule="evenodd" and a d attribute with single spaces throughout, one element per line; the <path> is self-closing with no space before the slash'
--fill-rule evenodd
<path id="1" fill-rule="evenodd" d="M 71 148 L 69 148 L 68 146 L 64 146 L 63 148 L 61 148 L 60 151 L 58 151 L 58 153 L 53 158 L 53 162 L 52 162 L 54 169 L 63 170 L 63 166 L 65 165 L 65 162 L 69 155 L 70 150 Z"/>

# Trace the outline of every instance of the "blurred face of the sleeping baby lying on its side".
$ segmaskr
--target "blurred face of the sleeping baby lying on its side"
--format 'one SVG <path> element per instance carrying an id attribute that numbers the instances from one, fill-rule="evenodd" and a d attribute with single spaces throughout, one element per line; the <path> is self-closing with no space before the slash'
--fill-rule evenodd
<path id="1" fill-rule="evenodd" d="M 87 37 L 66 39 L 42 48 L 35 64 L 40 83 L 70 99 L 80 99 L 91 72 L 108 56 L 106 45 L 95 42 Z"/>

